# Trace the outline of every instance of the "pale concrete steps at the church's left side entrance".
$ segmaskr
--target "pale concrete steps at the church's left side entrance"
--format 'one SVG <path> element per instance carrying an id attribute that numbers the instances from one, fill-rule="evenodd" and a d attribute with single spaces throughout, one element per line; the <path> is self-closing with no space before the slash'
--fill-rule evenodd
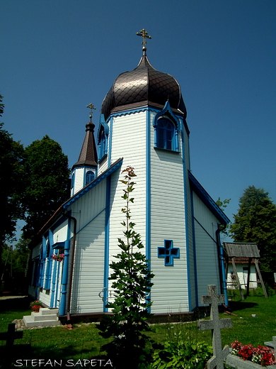
<path id="1" fill-rule="evenodd" d="M 23 316 L 23 322 L 27 328 L 33 326 L 58 326 L 60 324 L 57 316 L 58 309 L 40 308 L 38 313 L 32 312 L 31 315 Z"/>

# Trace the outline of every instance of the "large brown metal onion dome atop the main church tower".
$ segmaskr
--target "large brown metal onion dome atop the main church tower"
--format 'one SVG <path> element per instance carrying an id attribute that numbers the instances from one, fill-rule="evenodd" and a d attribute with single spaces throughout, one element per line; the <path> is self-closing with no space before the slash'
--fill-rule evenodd
<path id="1" fill-rule="evenodd" d="M 139 65 L 131 72 L 121 73 L 106 94 L 102 104 L 105 119 L 111 113 L 139 106 L 163 108 L 169 101 L 171 109 L 186 118 L 187 111 L 176 79 L 159 72 L 149 63 L 144 52 Z"/>

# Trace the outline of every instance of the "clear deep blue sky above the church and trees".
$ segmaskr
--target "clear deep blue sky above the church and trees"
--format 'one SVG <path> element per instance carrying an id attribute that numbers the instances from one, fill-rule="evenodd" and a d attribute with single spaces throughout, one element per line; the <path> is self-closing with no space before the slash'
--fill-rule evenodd
<path id="1" fill-rule="evenodd" d="M 178 80 L 192 173 L 238 209 L 248 185 L 276 199 L 275 0 L 0 1 L 2 116 L 16 141 L 46 134 L 76 163 L 92 102 L 137 66 L 146 28 L 151 65 Z"/>

